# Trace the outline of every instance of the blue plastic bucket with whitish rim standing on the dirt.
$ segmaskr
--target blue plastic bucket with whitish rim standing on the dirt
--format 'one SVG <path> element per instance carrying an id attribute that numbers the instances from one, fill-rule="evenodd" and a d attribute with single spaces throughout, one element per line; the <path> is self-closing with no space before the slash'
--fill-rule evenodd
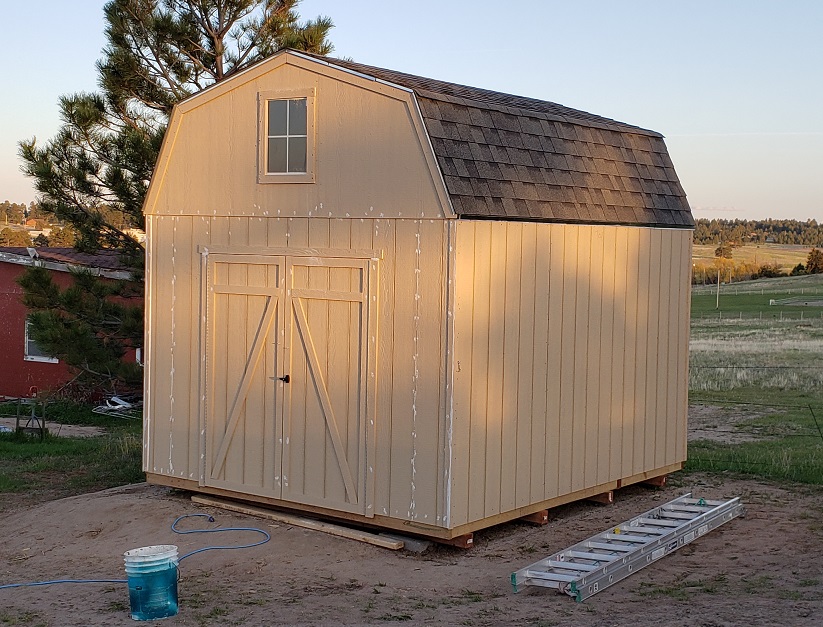
<path id="1" fill-rule="evenodd" d="M 144 546 L 123 554 L 134 620 L 156 620 L 177 614 L 177 547 Z"/>

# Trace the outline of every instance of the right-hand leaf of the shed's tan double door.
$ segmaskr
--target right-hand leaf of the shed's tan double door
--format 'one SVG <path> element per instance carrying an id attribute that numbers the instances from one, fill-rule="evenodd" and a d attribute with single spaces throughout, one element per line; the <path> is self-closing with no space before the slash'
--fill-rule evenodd
<path id="1" fill-rule="evenodd" d="M 286 273 L 283 498 L 365 513 L 369 262 L 289 257 Z"/>

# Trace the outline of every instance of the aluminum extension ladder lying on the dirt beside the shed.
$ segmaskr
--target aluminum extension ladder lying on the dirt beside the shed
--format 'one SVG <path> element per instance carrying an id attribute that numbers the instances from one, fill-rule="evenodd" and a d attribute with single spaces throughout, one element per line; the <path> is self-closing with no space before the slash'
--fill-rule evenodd
<path id="1" fill-rule="evenodd" d="M 583 601 L 743 513 L 739 498 L 710 501 L 691 493 L 512 573 L 524 586 L 555 588 Z"/>

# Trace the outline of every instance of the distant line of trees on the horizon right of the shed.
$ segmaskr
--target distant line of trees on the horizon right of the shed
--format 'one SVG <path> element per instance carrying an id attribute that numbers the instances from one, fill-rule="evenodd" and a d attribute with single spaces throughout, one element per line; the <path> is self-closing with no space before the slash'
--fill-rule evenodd
<path id="1" fill-rule="evenodd" d="M 823 246 L 823 227 L 817 220 L 697 220 L 695 244 L 796 244 Z"/>

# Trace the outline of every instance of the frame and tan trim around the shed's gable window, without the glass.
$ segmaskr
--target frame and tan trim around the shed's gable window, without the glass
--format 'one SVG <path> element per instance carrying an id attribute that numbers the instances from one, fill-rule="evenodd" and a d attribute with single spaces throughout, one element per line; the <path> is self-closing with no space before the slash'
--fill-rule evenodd
<path id="1" fill-rule="evenodd" d="M 268 172 L 268 103 L 270 100 L 306 99 L 306 171 Z M 261 91 L 257 94 L 257 182 L 314 183 L 315 180 L 315 96 L 314 88 Z"/>

